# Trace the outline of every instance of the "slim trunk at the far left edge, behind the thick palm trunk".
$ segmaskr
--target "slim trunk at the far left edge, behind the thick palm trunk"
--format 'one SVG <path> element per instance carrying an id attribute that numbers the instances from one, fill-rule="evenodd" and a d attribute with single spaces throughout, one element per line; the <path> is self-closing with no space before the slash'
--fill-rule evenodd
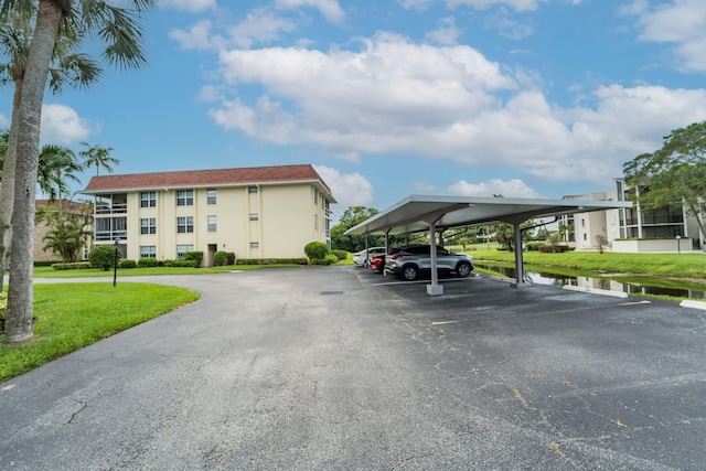
<path id="1" fill-rule="evenodd" d="M 2 164 L 2 184 L 0 185 L 0 289 L 4 285 L 4 272 L 9 268 L 8 250 L 12 243 L 12 205 L 14 203 L 14 167 L 18 154 L 18 121 L 20 120 L 20 94 L 22 78 L 14 79 L 12 96 L 12 121 L 8 136 L 8 150 Z"/>

